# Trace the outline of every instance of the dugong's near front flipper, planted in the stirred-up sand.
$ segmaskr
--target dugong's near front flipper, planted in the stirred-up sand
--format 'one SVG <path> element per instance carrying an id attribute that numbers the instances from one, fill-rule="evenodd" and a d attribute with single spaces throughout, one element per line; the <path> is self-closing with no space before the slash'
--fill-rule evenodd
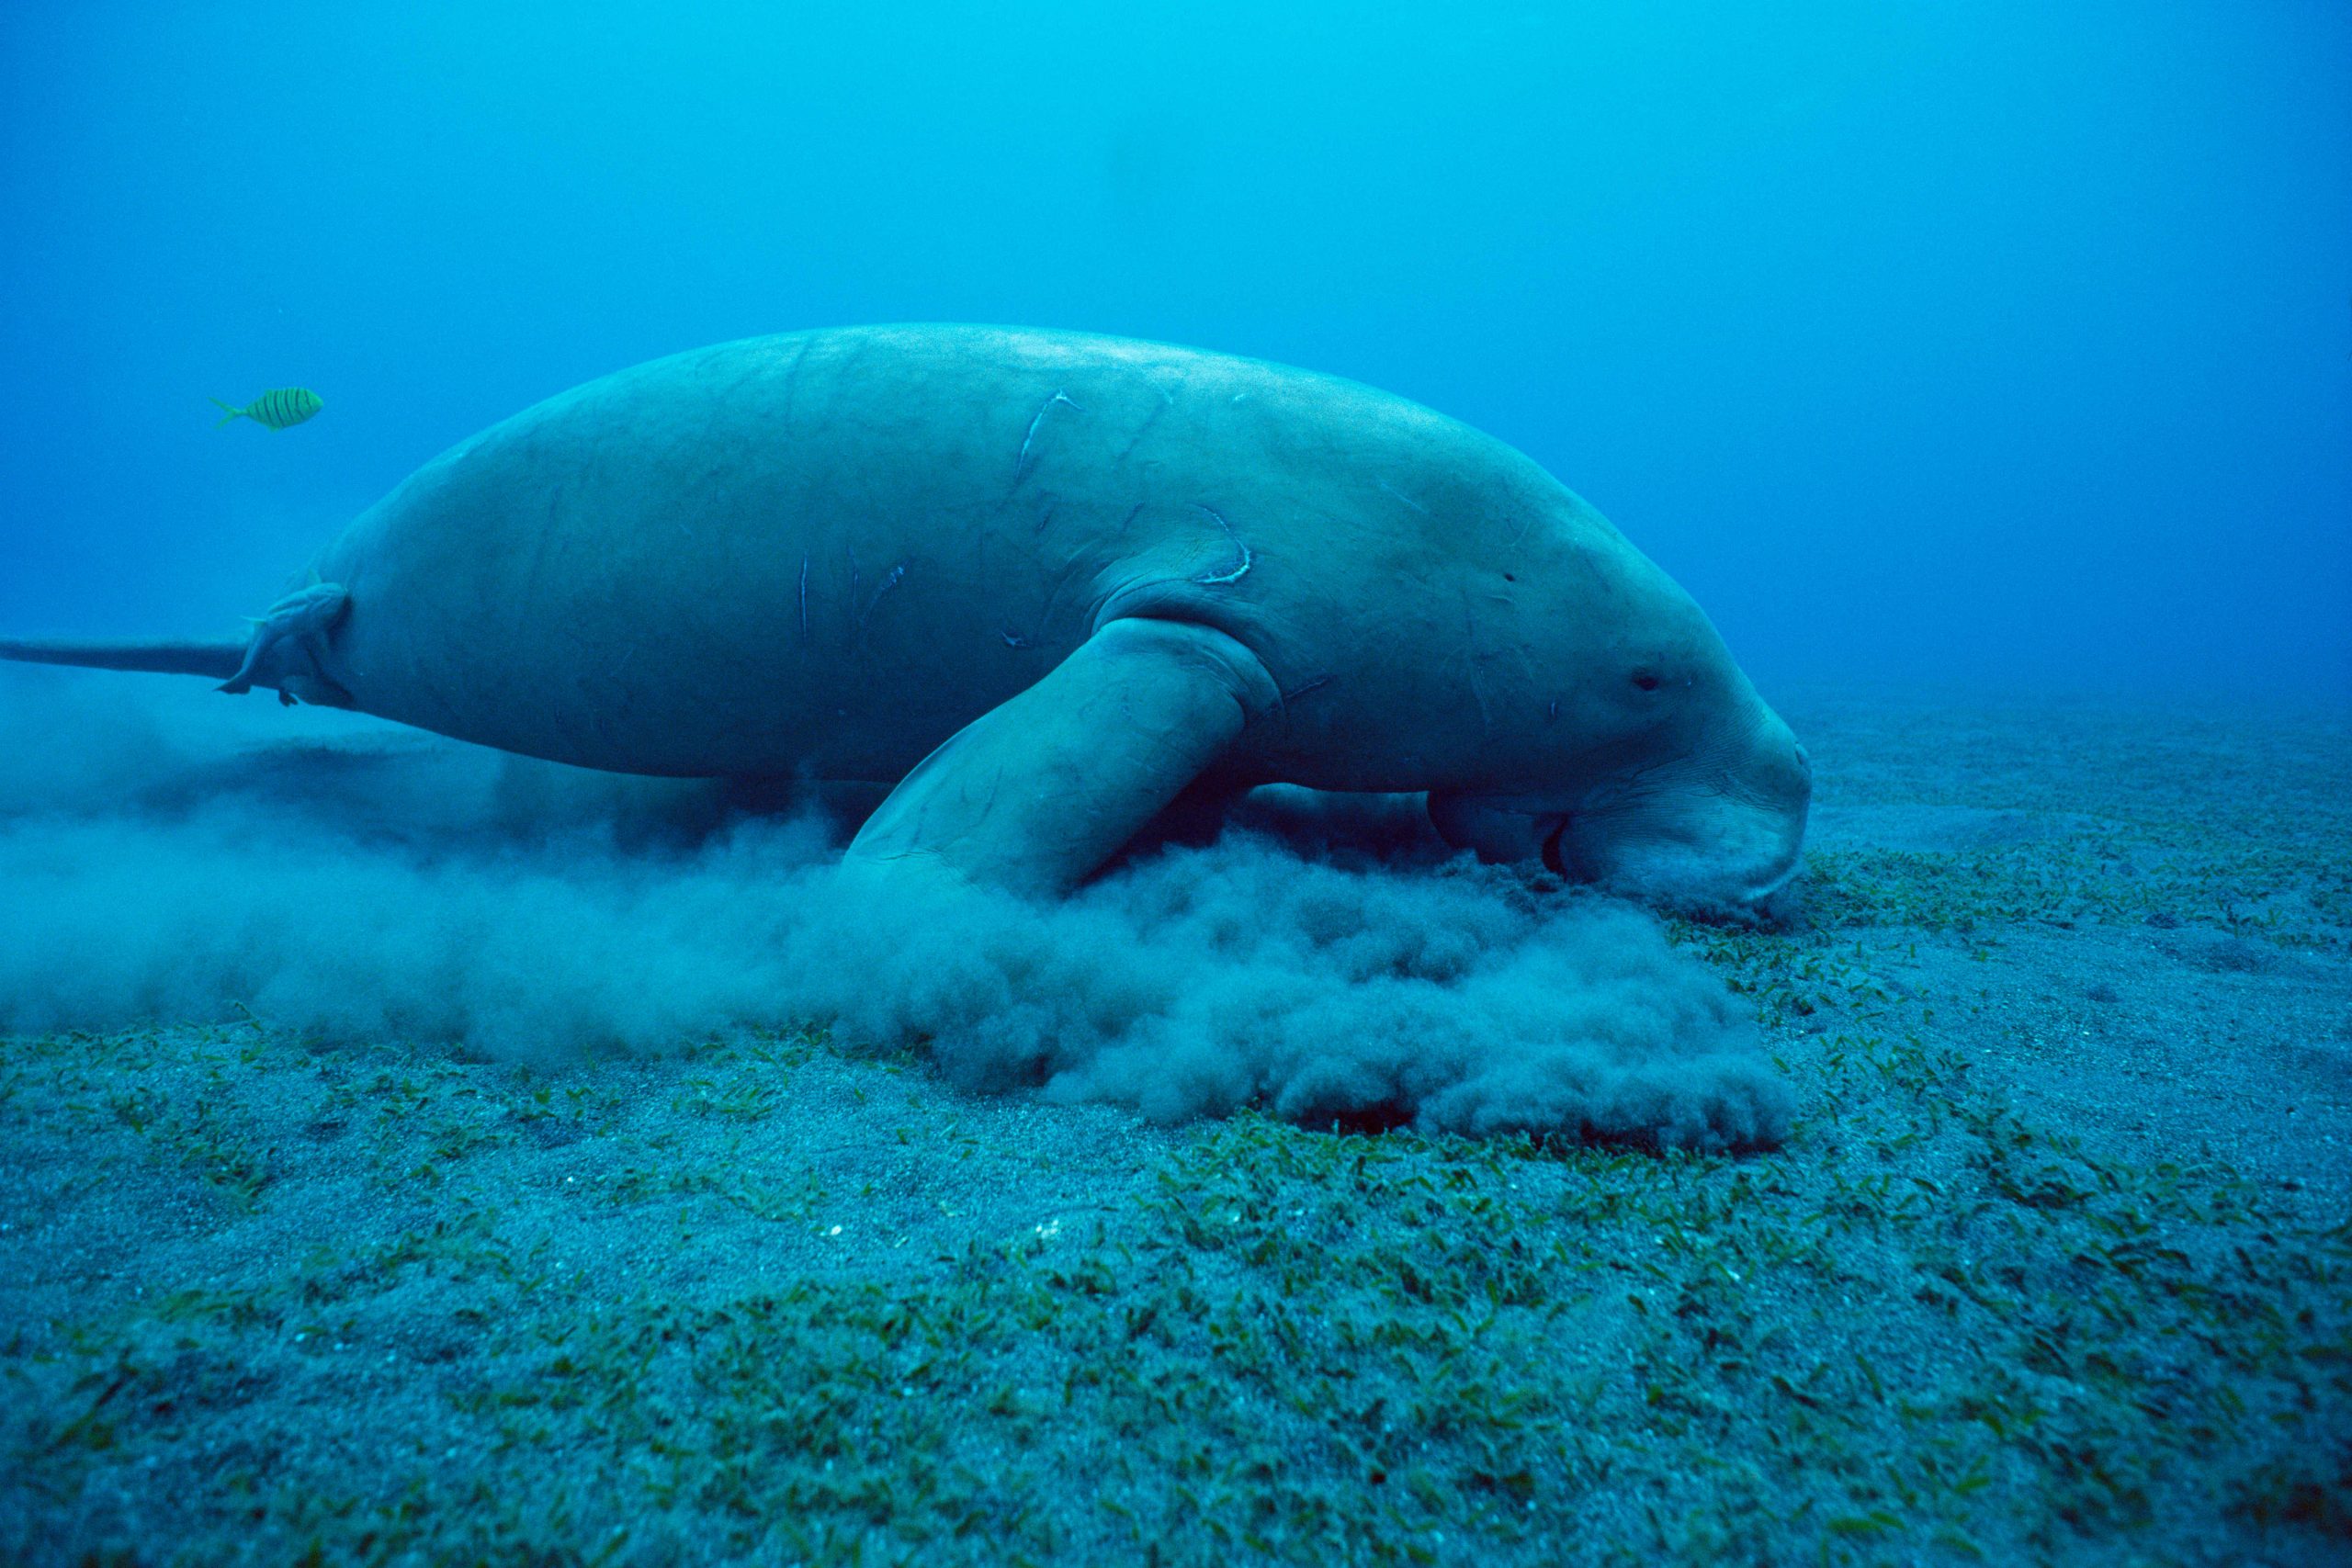
<path id="1" fill-rule="evenodd" d="M 1272 675 L 1225 632 L 1112 621 L 924 757 L 849 844 L 849 863 L 1063 891 L 1275 705 Z"/>

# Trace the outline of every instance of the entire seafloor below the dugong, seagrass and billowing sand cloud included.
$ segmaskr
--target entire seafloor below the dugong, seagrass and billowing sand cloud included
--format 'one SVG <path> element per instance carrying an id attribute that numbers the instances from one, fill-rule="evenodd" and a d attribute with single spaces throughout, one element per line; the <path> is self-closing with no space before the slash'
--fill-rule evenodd
<path id="1" fill-rule="evenodd" d="M 2340 717 L 1799 693 L 1762 929 L 1289 802 L 922 947 L 127 691 L 5 703 L 0 1556 L 2352 1549 Z"/>

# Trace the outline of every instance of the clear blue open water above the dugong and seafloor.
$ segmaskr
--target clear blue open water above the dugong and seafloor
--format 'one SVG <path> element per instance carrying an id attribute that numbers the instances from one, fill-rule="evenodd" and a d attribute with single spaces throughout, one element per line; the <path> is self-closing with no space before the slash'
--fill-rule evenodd
<path id="1" fill-rule="evenodd" d="M 1484 425 L 1766 691 L 2352 693 L 2333 0 L 684 9 L 7 7 L 0 630 L 221 630 L 635 360 L 983 320 Z"/>

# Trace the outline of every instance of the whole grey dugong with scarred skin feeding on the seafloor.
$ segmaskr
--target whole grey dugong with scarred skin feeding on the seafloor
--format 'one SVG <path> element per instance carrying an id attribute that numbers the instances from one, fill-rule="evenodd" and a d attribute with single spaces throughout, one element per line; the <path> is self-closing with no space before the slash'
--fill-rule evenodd
<path id="1" fill-rule="evenodd" d="M 1023 891 L 1178 792 L 1425 790 L 1670 896 L 1797 865 L 1804 748 L 1682 588 L 1402 397 L 1065 331 L 861 327 L 574 388 L 419 468 L 242 642 L 0 642 L 593 769 L 896 783 L 875 875 Z"/>

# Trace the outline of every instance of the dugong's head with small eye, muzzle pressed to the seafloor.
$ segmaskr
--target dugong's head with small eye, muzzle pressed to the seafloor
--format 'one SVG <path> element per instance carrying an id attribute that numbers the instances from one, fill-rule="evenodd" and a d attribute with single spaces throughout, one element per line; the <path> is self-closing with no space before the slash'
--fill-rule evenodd
<path id="1" fill-rule="evenodd" d="M 1573 503 L 1550 545 L 1505 576 L 1519 656 L 1489 661 L 1534 689 L 1508 693 L 1505 729 L 1489 677 L 1484 776 L 1432 790 L 1430 820 L 1486 860 L 1755 905 L 1797 870 L 1811 759 L 1691 595 L 1599 512 Z"/>

